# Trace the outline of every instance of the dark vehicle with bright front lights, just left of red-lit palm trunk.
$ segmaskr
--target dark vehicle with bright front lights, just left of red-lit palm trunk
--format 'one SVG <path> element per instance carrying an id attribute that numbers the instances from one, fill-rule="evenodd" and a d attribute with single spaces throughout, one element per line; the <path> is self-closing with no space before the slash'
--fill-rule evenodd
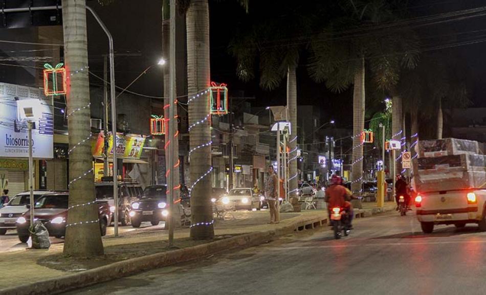
<path id="1" fill-rule="evenodd" d="M 157 225 L 161 220 L 166 220 L 169 215 L 167 207 L 167 186 L 148 186 L 143 190 L 142 197 L 131 203 L 131 226 L 139 228 L 143 221 L 150 221 Z"/>

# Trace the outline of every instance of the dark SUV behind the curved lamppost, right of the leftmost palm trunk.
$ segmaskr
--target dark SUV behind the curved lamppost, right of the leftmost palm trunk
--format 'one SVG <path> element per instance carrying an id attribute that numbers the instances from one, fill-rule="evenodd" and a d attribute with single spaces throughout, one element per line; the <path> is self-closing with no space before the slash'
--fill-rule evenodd
<path id="1" fill-rule="evenodd" d="M 130 222 L 131 203 L 142 197 L 142 186 L 136 180 L 125 179 L 118 181 L 118 222 L 125 226 Z M 99 181 L 95 183 L 96 199 L 105 200 L 109 204 L 109 210 L 115 212 L 115 200 L 113 197 L 113 181 Z M 113 214 L 114 216 L 114 214 Z M 110 220 L 108 224 L 113 222 Z"/>

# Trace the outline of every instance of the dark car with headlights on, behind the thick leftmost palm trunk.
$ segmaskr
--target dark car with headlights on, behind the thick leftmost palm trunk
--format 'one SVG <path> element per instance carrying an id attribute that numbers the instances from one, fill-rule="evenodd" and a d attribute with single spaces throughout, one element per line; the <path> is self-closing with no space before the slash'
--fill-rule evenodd
<path id="1" fill-rule="evenodd" d="M 67 192 L 53 192 L 40 196 L 34 205 L 34 218 L 46 226 L 49 236 L 61 238 L 66 233 L 66 222 L 68 220 L 68 199 Z M 97 201 L 98 218 L 101 235 L 106 235 L 106 226 L 110 218 L 110 211 L 107 201 Z M 16 220 L 18 239 L 25 243 L 29 239 L 30 212 L 22 214 Z"/>

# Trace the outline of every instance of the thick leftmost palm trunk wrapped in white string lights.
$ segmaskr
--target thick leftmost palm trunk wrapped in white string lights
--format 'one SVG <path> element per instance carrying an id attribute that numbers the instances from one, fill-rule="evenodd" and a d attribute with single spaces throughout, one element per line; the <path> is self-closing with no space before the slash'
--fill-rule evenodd
<path id="1" fill-rule="evenodd" d="M 62 21 L 64 30 L 64 60 L 68 69 L 68 117 L 69 176 L 73 181 L 69 187 L 69 206 L 89 203 L 95 200 L 93 156 L 90 141 L 90 86 L 86 69 L 86 6 L 85 0 L 64 0 L 62 2 Z M 72 74 L 72 75 L 71 75 Z M 78 110 L 78 111 L 75 111 Z M 84 141 L 84 142 L 83 142 Z M 82 142 L 82 143 L 81 143 Z M 79 144 L 81 143 L 81 144 Z M 98 219 L 98 206 L 79 206 L 69 210 L 68 224 Z M 76 257 L 103 255 L 100 225 L 98 222 L 68 226 L 64 241 L 64 254 Z"/>

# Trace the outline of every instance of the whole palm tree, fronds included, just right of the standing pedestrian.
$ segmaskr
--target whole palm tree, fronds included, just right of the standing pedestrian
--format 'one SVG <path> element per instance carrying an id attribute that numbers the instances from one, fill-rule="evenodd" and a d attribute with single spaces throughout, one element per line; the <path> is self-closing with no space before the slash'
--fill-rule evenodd
<path id="1" fill-rule="evenodd" d="M 300 3 L 258 3 L 252 17 L 236 33 L 230 51 L 237 60 L 237 75 L 243 81 L 255 77 L 258 60 L 260 86 L 273 90 L 286 78 L 286 104 L 291 123 L 289 140 L 289 196 L 296 197 L 297 172 L 297 67 L 311 31 L 312 6 Z M 253 7 L 255 7 L 253 6 Z M 269 9 L 271 7 L 271 9 Z M 253 13 L 253 12 L 252 12 Z M 261 17 L 258 17 L 261 16 Z M 294 40 L 298 38 L 298 42 Z"/>

